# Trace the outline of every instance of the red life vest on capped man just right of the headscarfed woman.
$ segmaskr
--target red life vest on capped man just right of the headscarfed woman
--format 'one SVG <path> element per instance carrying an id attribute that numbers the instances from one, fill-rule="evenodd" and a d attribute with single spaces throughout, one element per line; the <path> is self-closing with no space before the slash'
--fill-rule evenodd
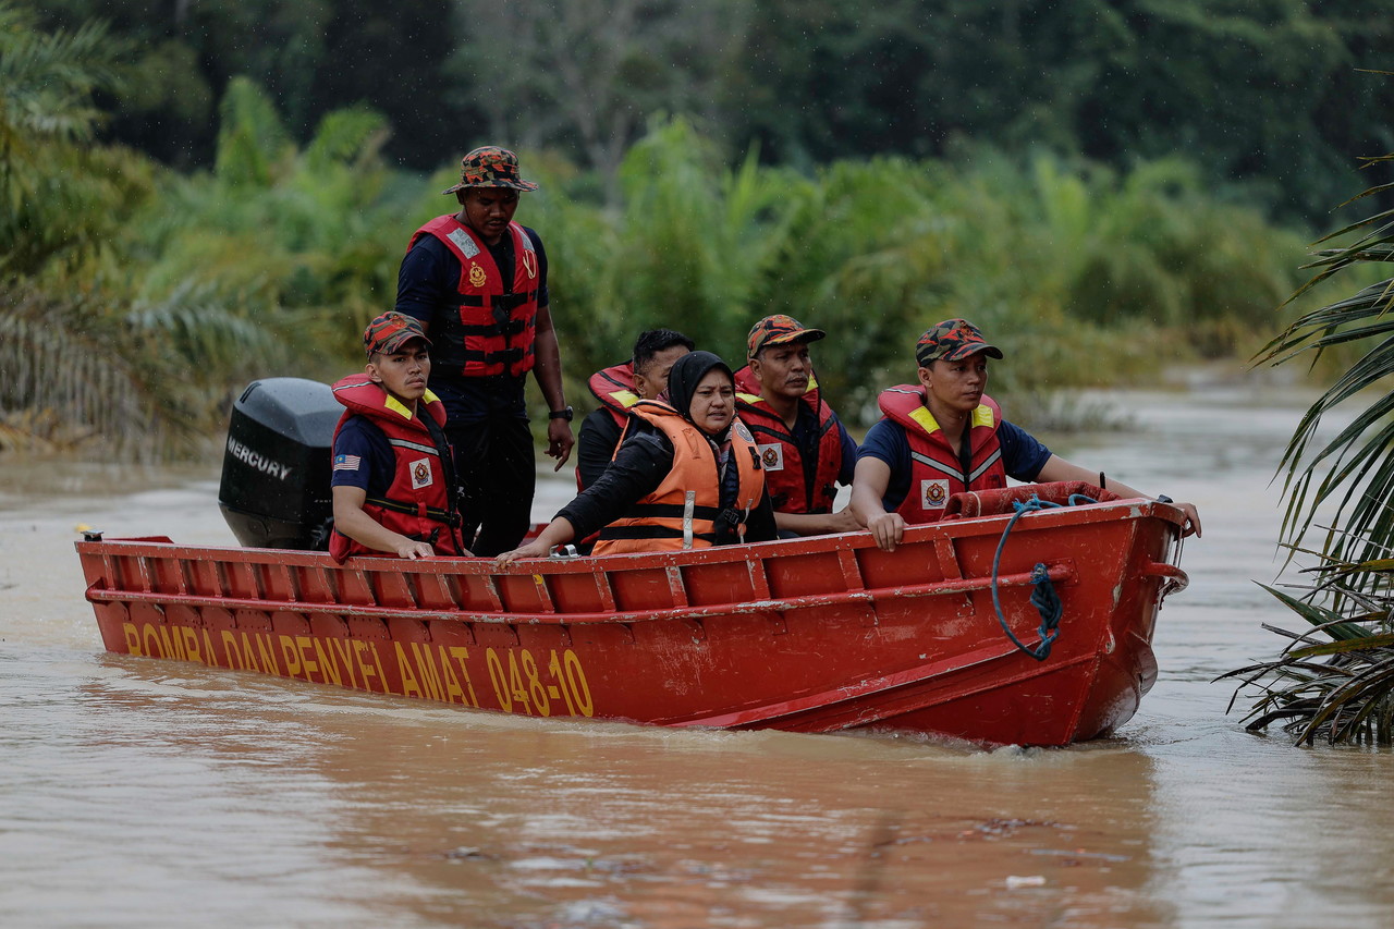
<path id="1" fill-rule="evenodd" d="M 769 403 L 760 396 L 760 381 L 744 367 L 736 372 L 736 403 L 750 427 L 765 469 L 769 502 L 779 513 L 831 513 L 842 471 L 842 430 L 838 417 L 818 393 L 817 378 L 809 378 L 803 402 L 818 417 L 818 446 L 814 449 L 813 483 L 804 480 L 803 451 L 793 432 Z"/>

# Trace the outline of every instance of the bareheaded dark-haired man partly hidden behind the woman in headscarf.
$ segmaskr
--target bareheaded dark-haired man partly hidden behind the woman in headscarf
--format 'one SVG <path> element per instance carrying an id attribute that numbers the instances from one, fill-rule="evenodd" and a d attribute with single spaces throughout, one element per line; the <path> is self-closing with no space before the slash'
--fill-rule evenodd
<path id="1" fill-rule="evenodd" d="M 590 388 L 597 407 L 576 439 L 576 488 L 585 490 L 595 483 L 611 459 L 629 420 L 629 407 L 643 399 L 652 400 L 668 386 L 668 371 L 673 361 L 697 346 L 682 332 L 648 329 L 634 340 L 634 354 L 623 364 L 615 364 L 591 375 Z"/>

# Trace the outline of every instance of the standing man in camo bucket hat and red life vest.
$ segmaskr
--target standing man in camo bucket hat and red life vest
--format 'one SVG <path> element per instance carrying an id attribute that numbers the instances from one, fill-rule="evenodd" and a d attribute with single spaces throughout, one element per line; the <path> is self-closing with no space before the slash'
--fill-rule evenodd
<path id="1" fill-rule="evenodd" d="M 442 191 L 460 211 L 413 233 L 397 273 L 396 310 L 420 319 L 431 338 L 431 389 L 447 413 L 464 540 L 477 555 L 516 548 L 531 524 L 528 371 L 546 399 L 553 470 L 574 444 L 546 252 L 534 230 L 513 222 L 520 194 L 535 190 L 509 149 L 474 149 L 460 160 L 460 183 Z"/>

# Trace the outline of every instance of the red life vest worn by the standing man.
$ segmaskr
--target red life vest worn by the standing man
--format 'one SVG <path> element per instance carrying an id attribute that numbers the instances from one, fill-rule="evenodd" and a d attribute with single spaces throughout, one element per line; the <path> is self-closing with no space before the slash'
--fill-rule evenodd
<path id="1" fill-rule="evenodd" d="M 513 280 L 503 275 L 478 234 L 454 216 L 436 216 L 411 234 L 435 236 L 460 259 L 459 312 L 446 312 L 431 331 L 432 357 L 445 370 L 467 378 L 521 375 L 533 370 L 537 335 L 538 262 L 533 239 L 517 223 L 513 236 Z M 505 293 L 505 290 L 510 293 Z"/>

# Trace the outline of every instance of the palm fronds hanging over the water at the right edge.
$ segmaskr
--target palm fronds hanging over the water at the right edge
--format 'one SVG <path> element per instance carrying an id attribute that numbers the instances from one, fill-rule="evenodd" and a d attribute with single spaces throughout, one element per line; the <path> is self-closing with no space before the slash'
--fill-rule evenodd
<path id="1" fill-rule="evenodd" d="M 1377 165 L 1394 155 L 1368 159 Z M 1394 188 L 1384 184 L 1356 199 Z M 1394 211 L 1374 215 L 1327 236 L 1351 240 L 1317 251 L 1312 279 L 1294 299 L 1340 276 L 1358 290 L 1344 300 L 1301 315 L 1267 345 L 1262 360 L 1287 364 L 1335 354 L 1333 384 L 1308 409 L 1288 444 L 1281 467 L 1288 498 L 1284 540 L 1294 555 L 1315 555 L 1305 573 L 1315 583 L 1299 597 L 1269 589 L 1313 628 L 1294 633 L 1273 661 L 1225 677 L 1259 683 L 1249 728 L 1281 725 L 1296 742 L 1394 743 Z M 1319 243 L 1319 244 L 1322 244 Z M 1362 286 L 1363 285 L 1363 286 Z M 1337 407 L 1363 405 L 1351 423 L 1320 449 L 1313 446 L 1323 417 Z M 1317 513 L 1328 529 L 1312 547 Z M 1319 658 L 1326 658 L 1324 661 Z M 1238 695 L 1236 695 L 1238 696 Z"/>

